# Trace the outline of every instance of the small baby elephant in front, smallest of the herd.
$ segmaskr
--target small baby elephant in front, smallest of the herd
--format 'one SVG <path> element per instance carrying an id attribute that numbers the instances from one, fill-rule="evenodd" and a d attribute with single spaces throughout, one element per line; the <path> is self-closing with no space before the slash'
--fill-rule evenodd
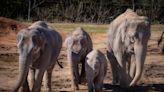
<path id="1" fill-rule="evenodd" d="M 99 50 L 92 50 L 86 56 L 85 71 L 88 92 L 103 92 L 103 80 L 107 72 L 107 60 Z"/>

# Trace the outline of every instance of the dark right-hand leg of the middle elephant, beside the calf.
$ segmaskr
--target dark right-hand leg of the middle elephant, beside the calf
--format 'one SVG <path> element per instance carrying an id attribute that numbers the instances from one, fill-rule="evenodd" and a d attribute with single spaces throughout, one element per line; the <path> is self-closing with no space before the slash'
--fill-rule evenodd
<path id="1" fill-rule="evenodd" d="M 80 84 L 85 84 L 86 83 L 85 59 L 82 59 L 81 63 L 82 66 L 81 66 Z"/>

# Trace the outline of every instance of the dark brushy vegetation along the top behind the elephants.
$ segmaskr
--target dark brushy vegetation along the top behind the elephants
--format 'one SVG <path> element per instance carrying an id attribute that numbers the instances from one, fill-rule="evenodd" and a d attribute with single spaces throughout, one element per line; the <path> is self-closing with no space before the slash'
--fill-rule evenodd
<path id="1" fill-rule="evenodd" d="M 164 0 L 1 0 L 0 16 L 28 21 L 109 23 L 131 8 L 164 23 Z"/>

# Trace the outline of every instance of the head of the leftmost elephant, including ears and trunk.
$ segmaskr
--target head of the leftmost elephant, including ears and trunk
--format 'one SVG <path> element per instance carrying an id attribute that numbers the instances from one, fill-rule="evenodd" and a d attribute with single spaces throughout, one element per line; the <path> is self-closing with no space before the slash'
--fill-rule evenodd
<path id="1" fill-rule="evenodd" d="M 16 40 L 19 51 L 19 78 L 14 92 L 17 92 L 27 79 L 30 65 L 41 56 L 46 38 L 35 28 L 27 28 L 18 32 Z"/>

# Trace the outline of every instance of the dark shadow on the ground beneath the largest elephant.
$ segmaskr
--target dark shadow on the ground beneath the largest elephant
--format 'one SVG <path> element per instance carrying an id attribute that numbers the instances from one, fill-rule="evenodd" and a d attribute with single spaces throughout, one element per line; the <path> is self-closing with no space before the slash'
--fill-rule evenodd
<path id="1" fill-rule="evenodd" d="M 118 85 L 104 84 L 104 92 L 164 92 L 164 84 L 142 84 L 129 89 L 120 88 Z"/>

